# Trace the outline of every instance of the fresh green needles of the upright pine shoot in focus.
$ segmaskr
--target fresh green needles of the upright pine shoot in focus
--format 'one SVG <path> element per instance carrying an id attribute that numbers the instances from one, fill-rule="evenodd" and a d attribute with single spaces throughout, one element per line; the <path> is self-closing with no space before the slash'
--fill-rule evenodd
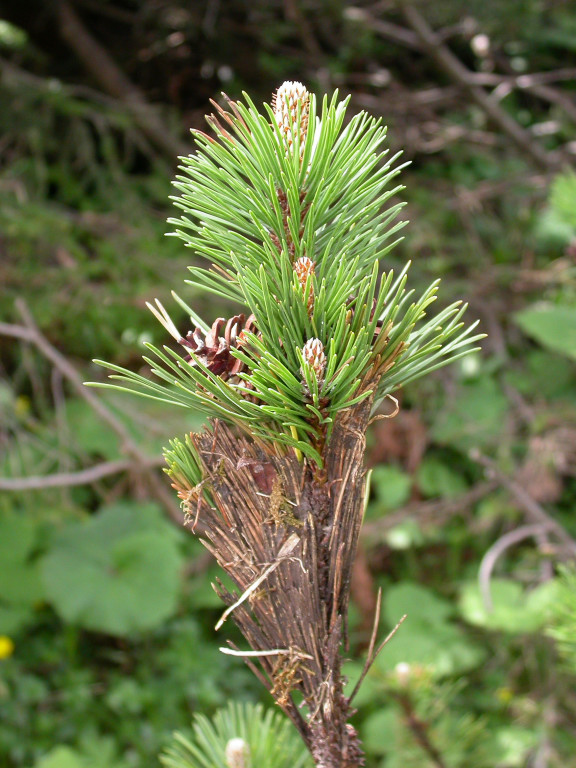
<path id="1" fill-rule="evenodd" d="M 392 182 L 402 166 L 398 156 L 387 157 L 379 120 L 360 113 L 345 124 L 347 104 L 334 94 L 318 110 L 311 96 L 307 133 L 300 137 L 292 126 L 290 149 L 272 109 L 259 112 L 244 95 L 230 115 L 233 128 L 226 124 L 224 133 L 216 124 L 217 141 L 196 133 L 198 151 L 182 158 L 174 197 L 181 215 L 170 219 L 172 234 L 207 260 L 190 268 L 187 282 L 255 316 L 256 332 L 230 349 L 241 375 L 225 380 L 200 353 L 186 350 L 188 360 L 184 352 L 146 345 L 153 379 L 96 361 L 121 383 L 94 386 L 202 411 L 320 463 L 315 446 L 337 413 L 370 394 L 376 408 L 399 387 L 475 349 L 482 335 L 462 324 L 465 307 L 427 317 L 438 281 L 415 296 L 406 288 L 408 265 L 398 276 L 379 277 L 404 225 L 396 220 L 400 204 L 383 210 L 401 189 Z M 314 262 L 304 285 L 294 268 L 301 257 Z M 208 333 L 210 323 L 173 295 L 192 326 Z M 151 309 L 179 341 L 166 310 L 159 303 Z M 302 358 L 314 338 L 326 357 L 322 381 Z M 359 391 L 376 362 L 385 373 L 375 392 Z M 172 443 L 166 457 L 170 474 L 196 485 L 202 473 L 193 453 L 189 444 Z"/>

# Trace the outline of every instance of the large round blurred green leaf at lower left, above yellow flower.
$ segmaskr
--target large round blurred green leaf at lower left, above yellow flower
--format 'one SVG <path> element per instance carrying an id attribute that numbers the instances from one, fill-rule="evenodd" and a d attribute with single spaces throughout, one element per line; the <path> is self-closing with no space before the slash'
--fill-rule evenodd
<path id="1" fill-rule="evenodd" d="M 153 505 L 119 504 L 62 531 L 42 574 L 65 621 L 122 636 L 174 613 L 181 563 L 175 536 Z"/>

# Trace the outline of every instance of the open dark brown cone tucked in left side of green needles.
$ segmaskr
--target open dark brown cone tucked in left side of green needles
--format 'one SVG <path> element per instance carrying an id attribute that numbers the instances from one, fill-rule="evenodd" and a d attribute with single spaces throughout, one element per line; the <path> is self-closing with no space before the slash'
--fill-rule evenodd
<path id="1" fill-rule="evenodd" d="M 220 335 L 222 328 L 224 332 Z M 254 315 L 250 315 L 248 320 L 245 315 L 234 315 L 228 321 L 218 317 L 208 333 L 201 328 L 195 328 L 188 332 L 185 339 L 180 339 L 180 344 L 191 349 L 209 371 L 223 379 L 229 379 L 237 376 L 244 368 L 244 363 L 233 357 L 230 350 L 242 346 L 245 333 L 254 331 L 255 328 Z M 192 355 L 187 355 L 184 359 L 193 362 Z"/>

